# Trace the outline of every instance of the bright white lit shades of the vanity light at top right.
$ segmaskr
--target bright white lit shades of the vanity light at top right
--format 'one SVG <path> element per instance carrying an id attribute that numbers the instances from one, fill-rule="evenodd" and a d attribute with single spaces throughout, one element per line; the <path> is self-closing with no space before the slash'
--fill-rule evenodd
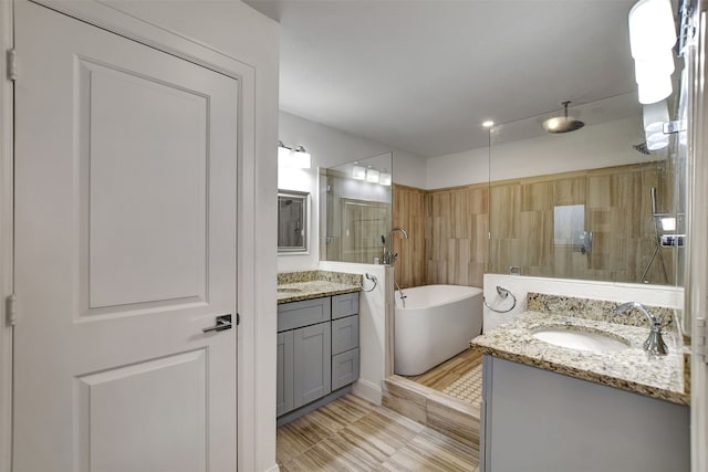
<path id="1" fill-rule="evenodd" d="M 639 0 L 629 10 L 629 48 L 639 103 L 653 104 L 671 92 L 676 25 L 670 0 Z"/>

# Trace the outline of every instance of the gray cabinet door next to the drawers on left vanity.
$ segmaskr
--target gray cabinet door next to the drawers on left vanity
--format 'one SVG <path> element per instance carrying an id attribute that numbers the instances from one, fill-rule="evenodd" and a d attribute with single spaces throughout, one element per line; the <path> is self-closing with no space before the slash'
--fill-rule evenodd
<path id="1" fill-rule="evenodd" d="M 331 324 L 294 329 L 294 408 L 332 391 Z"/>

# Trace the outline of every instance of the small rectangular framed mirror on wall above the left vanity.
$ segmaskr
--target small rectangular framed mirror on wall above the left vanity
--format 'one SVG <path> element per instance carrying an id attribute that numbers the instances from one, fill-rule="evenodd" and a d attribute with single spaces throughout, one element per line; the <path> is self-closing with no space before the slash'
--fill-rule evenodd
<path id="1" fill-rule="evenodd" d="M 310 193 L 278 191 L 278 252 L 308 252 L 308 198 Z"/>

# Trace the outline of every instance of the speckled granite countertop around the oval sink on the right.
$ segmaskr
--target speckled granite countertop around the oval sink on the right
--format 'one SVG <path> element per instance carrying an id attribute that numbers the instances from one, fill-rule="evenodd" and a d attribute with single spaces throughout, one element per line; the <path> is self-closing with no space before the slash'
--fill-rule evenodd
<path id="1" fill-rule="evenodd" d="M 559 347 L 532 336 L 545 327 L 585 329 L 610 334 L 629 343 L 627 349 L 594 353 Z M 643 344 L 648 327 L 627 326 L 596 319 L 558 314 L 525 312 L 470 342 L 473 349 L 503 359 L 540 367 L 571 377 L 610 387 L 689 405 L 690 395 L 684 386 L 683 342 L 673 332 L 664 333 L 668 355 L 652 356 Z"/>

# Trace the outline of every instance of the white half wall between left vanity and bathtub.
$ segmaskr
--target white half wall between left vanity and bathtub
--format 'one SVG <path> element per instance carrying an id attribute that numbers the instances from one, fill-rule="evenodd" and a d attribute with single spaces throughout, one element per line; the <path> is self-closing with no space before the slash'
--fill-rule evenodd
<path id="1" fill-rule="evenodd" d="M 382 384 L 386 376 L 386 268 L 384 265 L 352 264 L 347 262 L 320 263 L 323 271 L 375 275 L 378 280 L 372 292 L 362 291 L 358 304 L 360 377 L 354 384 L 354 394 L 376 405 L 382 402 Z M 389 269 L 389 273 L 393 271 Z M 364 289 L 373 283 L 364 279 Z M 392 294 L 393 295 L 393 294 Z M 388 303 L 391 310 L 391 303 Z"/>

